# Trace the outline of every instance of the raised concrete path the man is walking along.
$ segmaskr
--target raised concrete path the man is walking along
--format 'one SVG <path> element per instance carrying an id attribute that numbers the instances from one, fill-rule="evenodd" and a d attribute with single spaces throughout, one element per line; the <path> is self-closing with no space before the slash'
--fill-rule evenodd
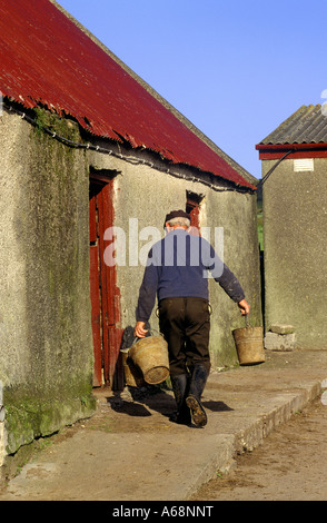
<path id="1" fill-rule="evenodd" d="M 327 387 L 327 351 L 266 351 L 266 362 L 210 374 L 208 425 L 169 422 L 171 391 L 95 389 L 90 420 L 47 443 L 0 501 L 182 501 L 235 466 Z"/>

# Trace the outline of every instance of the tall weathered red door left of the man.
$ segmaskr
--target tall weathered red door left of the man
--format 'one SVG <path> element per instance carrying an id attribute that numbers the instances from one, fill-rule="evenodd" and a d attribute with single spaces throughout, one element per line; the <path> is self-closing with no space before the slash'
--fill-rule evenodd
<path id="1" fill-rule="evenodd" d="M 116 266 L 103 260 L 105 230 L 113 225 L 113 180 L 90 179 L 90 293 L 95 352 L 93 386 L 112 386 L 120 342 L 120 293 L 116 283 Z"/>

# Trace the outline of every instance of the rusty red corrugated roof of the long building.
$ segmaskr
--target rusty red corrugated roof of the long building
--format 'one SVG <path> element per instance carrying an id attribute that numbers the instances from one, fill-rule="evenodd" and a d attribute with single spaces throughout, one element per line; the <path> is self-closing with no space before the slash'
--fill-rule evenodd
<path id="1" fill-rule="evenodd" d="M 254 187 L 49 0 L 1 0 L 0 59 L 0 90 L 24 107 Z"/>

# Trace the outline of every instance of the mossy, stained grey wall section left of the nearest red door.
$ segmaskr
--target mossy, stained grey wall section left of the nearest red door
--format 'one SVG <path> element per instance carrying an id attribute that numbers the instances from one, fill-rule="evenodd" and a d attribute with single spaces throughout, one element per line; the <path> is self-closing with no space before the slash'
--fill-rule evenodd
<path id="1" fill-rule="evenodd" d="M 0 140 L 1 463 L 95 399 L 86 158 L 6 109 Z"/>

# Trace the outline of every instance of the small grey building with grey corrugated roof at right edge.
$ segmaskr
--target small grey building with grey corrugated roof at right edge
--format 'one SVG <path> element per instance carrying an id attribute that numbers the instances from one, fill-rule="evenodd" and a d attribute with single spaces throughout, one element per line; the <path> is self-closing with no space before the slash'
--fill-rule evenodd
<path id="1" fill-rule="evenodd" d="M 262 160 L 265 324 L 327 348 L 327 117 L 303 106 L 256 146 Z"/>

